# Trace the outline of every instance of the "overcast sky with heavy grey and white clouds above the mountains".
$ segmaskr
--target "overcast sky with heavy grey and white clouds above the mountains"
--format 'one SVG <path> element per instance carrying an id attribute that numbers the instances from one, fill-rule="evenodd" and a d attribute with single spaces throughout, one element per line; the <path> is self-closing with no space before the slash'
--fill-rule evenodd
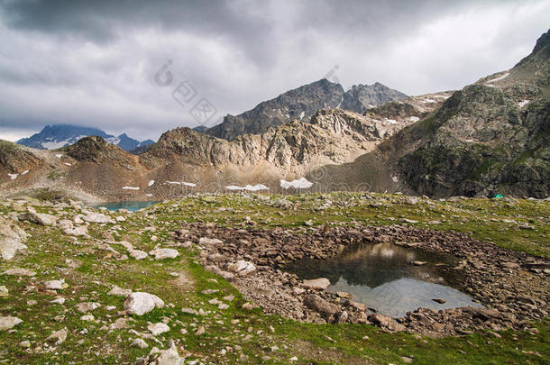
<path id="1" fill-rule="evenodd" d="M 203 98 L 213 125 L 325 77 L 457 89 L 527 56 L 548 14 L 549 0 L 0 0 L 0 139 L 52 123 L 157 139 L 197 125 Z"/>

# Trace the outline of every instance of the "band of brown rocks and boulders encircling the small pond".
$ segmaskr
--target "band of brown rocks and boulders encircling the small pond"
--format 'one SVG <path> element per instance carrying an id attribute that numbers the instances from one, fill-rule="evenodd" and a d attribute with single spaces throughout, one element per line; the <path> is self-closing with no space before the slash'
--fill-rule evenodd
<path id="1" fill-rule="evenodd" d="M 300 230 L 237 229 L 215 224 L 184 224 L 176 244 L 197 245 L 202 265 L 232 282 L 243 296 L 268 314 L 312 323 L 374 324 L 385 331 L 409 331 L 431 337 L 531 330 L 528 321 L 548 316 L 550 261 L 480 242 L 466 233 L 417 229 L 407 225 L 325 226 Z M 357 244 L 393 243 L 452 255 L 459 264 L 456 287 L 481 307 L 445 310 L 419 308 L 393 319 L 371 312 L 324 285 L 305 283 L 282 268 L 293 260 L 329 259 Z M 498 335 L 498 333 L 495 333 Z"/>

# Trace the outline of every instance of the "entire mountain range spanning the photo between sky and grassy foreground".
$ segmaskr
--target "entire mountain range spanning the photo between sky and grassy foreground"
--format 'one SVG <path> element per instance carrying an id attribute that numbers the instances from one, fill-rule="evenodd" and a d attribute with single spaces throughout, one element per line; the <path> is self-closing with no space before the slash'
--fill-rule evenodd
<path id="1" fill-rule="evenodd" d="M 323 79 L 213 128 L 165 132 L 139 156 L 98 130 L 64 135 L 48 127 L 28 140 L 54 148 L 98 137 L 40 153 L 0 141 L 0 191 L 50 186 L 110 201 L 235 187 L 549 196 L 550 31 L 515 67 L 461 90 L 384 103 L 401 97 L 390 90 L 344 92 Z"/>

